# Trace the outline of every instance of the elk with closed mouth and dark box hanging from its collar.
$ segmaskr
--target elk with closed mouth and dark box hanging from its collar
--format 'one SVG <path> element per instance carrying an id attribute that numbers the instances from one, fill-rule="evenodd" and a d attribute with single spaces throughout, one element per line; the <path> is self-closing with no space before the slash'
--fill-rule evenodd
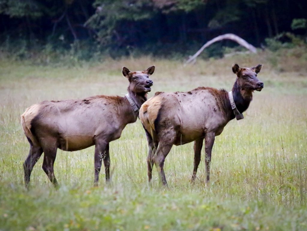
<path id="1" fill-rule="evenodd" d="M 262 64 L 252 68 L 232 66 L 237 75 L 231 92 L 211 87 L 198 87 L 188 92 L 157 92 L 140 108 L 140 120 L 148 141 L 148 180 L 152 179 L 153 163 L 159 181 L 167 185 L 163 169 L 165 157 L 173 145 L 194 141 L 194 169 L 192 182 L 200 163 L 205 140 L 206 182 L 210 179 L 211 151 L 215 136 L 236 117 L 243 119 L 244 112 L 253 97 L 254 90 L 261 91 L 263 82 L 257 78 Z"/>

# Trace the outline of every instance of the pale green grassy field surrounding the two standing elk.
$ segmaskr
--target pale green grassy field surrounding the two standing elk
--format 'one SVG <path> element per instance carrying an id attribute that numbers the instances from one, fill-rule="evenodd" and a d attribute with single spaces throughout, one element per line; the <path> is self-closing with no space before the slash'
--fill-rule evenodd
<path id="1" fill-rule="evenodd" d="M 262 53 L 199 60 L 185 67 L 179 61 L 150 57 L 74 67 L 0 60 L 0 230 L 306 230 L 306 67 L 291 57 L 280 57 L 278 64 L 273 58 Z M 232 120 L 216 137 L 209 185 L 205 186 L 203 162 L 196 183 L 189 182 L 190 143 L 173 147 L 166 158 L 169 187 L 159 187 L 155 168 L 149 187 L 148 149 L 138 120 L 110 144 L 110 185 L 103 169 L 99 187 L 92 187 L 94 148 L 90 147 L 58 150 L 59 190 L 41 169 L 43 158 L 33 169 L 30 189 L 24 188 L 22 164 L 29 144 L 20 115 L 25 108 L 42 100 L 123 96 L 128 81 L 121 74 L 122 66 L 144 70 L 156 65 L 149 97 L 155 91 L 198 86 L 230 90 L 234 62 L 264 64 L 258 74 L 264 89 L 255 92 L 245 119 Z"/>

